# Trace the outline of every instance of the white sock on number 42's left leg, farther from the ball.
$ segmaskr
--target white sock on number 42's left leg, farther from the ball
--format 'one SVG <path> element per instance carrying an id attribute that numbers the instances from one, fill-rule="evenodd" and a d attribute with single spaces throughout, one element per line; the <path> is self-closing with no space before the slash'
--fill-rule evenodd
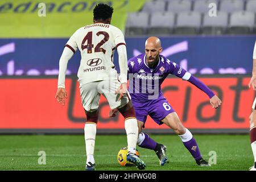
<path id="1" fill-rule="evenodd" d="M 84 138 L 85 138 L 85 147 L 86 147 L 86 155 L 88 162 L 92 164 L 95 163 L 93 154 L 94 154 L 94 145 L 95 145 L 95 138 L 96 138 L 96 123 L 85 123 L 84 126 Z"/>

